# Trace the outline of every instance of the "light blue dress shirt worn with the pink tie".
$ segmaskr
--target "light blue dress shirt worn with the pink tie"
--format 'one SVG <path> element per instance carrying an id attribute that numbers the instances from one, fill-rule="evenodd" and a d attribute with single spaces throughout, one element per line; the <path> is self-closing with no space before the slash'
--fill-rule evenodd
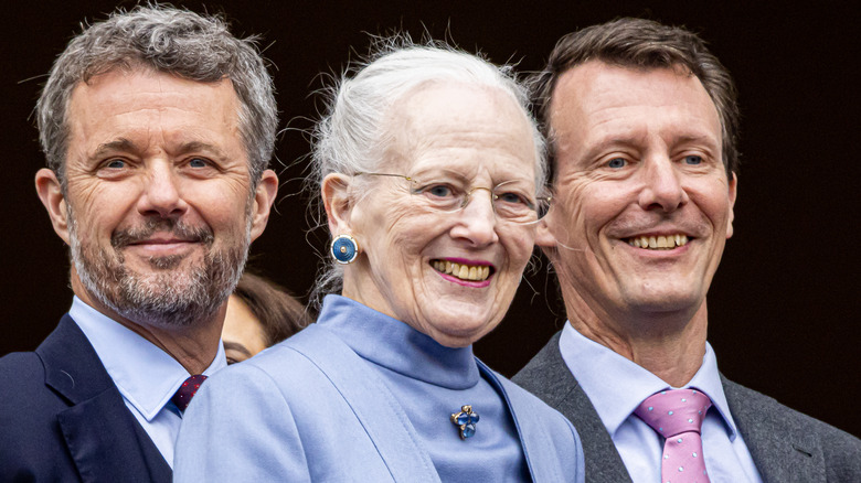
<path id="1" fill-rule="evenodd" d="M 560 352 L 607 428 L 634 483 L 661 479 L 663 439 L 634 415 L 644 399 L 670 388 L 658 376 L 592 341 L 565 323 Z M 712 400 L 702 425 L 703 457 L 712 482 L 761 482 L 751 452 L 730 414 L 718 359 L 705 343 L 702 366 L 684 388 L 697 388 Z M 676 388 L 678 389 L 678 388 Z"/>

